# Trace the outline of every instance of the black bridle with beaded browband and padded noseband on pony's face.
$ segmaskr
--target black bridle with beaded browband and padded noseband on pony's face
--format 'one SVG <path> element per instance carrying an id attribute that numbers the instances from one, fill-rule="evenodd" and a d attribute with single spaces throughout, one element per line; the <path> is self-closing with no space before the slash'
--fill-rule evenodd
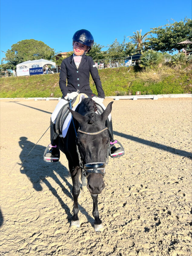
<path id="1" fill-rule="evenodd" d="M 86 131 L 81 131 L 80 129 L 78 129 L 78 132 L 86 134 L 86 135 L 97 135 L 97 134 L 100 134 L 103 131 L 106 131 L 107 129 L 108 128 L 105 127 L 104 129 L 102 129 L 100 131 L 96 131 L 96 132 L 86 132 Z M 78 138 L 78 135 L 77 135 L 77 138 Z M 108 143 L 107 155 L 106 155 L 104 163 L 103 162 L 97 162 L 97 163 L 88 163 L 88 164 L 83 165 L 83 162 L 81 160 L 81 155 L 80 155 L 80 152 L 79 152 L 79 148 L 78 148 L 78 145 L 77 145 L 77 153 L 78 153 L 78 158 L 79 158 L 79 164 L 80 164 L 80 167 L 83 169 L 85 176 L 87 176 L 88 173 L 90 172 L 90 173 L 99 173 L 104 177 L 104 175 L 105 175 L 105 166 L 108 164 L 108 159 L 109 159 L 109 148 L 110 148 L 110 145 Z"/>

